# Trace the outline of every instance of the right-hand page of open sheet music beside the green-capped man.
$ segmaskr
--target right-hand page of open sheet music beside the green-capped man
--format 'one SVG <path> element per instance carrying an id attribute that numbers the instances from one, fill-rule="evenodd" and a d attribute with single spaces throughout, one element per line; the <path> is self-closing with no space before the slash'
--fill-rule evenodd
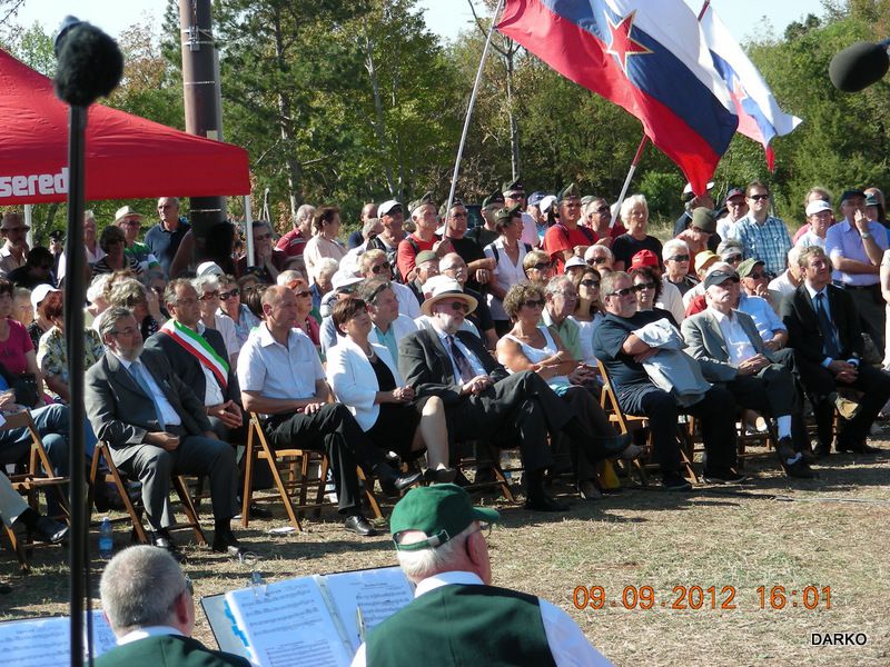
<path id="1" fill-rule="evenodd" d="M 398 567 L 338 573 L 319 579 L 343 621 L 353 653 L 362 644 L 356 607 L 362 607 L 368 631 L 414 599 L 414 589 Z"/>

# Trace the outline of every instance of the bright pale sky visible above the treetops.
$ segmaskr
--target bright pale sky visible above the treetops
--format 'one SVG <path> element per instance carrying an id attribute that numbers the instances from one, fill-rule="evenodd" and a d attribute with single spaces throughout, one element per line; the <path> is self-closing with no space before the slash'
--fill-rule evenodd
<path id="1" fill-rule="evenodd" d="M 484 12 L 482 1 L 473 1 L 477 11 Z M 702 4 L 696 0 L 686 0 L 686 3 L 696 13 Z M 47 32 L 53 33 L 67 14 L 73 14 L 113 37 L 141 22 L 144 17 L 160 22 L 165 7 L 165 0 L 24 0 L 18 22 L 29 27 L 38 21 Z M 427 26 L 445 39 L 453 39 L 461 30 L 472 27 L 473 14 L 467 0 L 418 0 L 418 7 L 426 10 Z M 820 0 L 712 0 L 711 7 L 740 42 L 761 36 L 767 22 L 781 36 L 790 22 L 808 13 L 822 14 Z"/>

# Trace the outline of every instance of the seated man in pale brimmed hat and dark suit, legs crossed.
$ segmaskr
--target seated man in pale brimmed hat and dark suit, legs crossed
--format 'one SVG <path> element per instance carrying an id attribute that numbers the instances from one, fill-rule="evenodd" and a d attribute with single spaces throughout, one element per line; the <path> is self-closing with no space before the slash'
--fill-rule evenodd
<path id="1" fill-rule="evenodd" d="M 508 375 L 478 337 L 459 330 L 475 307 L 476 299 L 464 293 L 456 280 L 437 283 L 421 307 L 433 329 L 402 340 L 398 368 L 418 398 L 438 396 L 445 402 L 452 441 L 482 439 L 513 447 L 518 440 L 525 507 L 563 511 L 567 507 L 544 492 L 544 470 L 553 464 L 547 432 L 565 431 L 592 460 L 619 456 L 627 442 L 587 432 L 536 372 Z"/>

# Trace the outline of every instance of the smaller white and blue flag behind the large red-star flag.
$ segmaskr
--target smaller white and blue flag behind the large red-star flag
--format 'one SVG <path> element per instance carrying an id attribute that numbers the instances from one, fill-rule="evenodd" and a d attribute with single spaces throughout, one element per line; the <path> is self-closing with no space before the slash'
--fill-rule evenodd
<path id="1" fill-rule="evenodd" d="M 749 60 L 714 10 L 709 7 L 702 17 L 702 33 L 711 51 L 714 69 L 732 96 L 739 116 L 739 132 L 763 145 L 770 171 L 775 165 L 770 141 L 777 135 L 788 135 L 801 119 L 779 108 L 772 91 L 758 68 Z"/>

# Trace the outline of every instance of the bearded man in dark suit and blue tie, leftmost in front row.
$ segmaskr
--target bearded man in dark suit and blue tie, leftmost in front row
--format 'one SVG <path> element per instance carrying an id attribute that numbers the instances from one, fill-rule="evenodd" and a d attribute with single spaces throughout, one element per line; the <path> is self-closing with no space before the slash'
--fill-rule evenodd
<path id="1" fill-rule="evenodd" d="M 109 308 L 100 327 L 108 348 L 87 371 L 87 415 L 115 465 L 142 482 L 155 546 L 179 555 L 170 541 L 170 476 L 208 475 L 214 550 L 238 554 L 231 532 L 237 468 L 231 446 L 214 434 L 204 404 L 157 350 L 142 350 L 139 326 L 126 308 Z"/>

